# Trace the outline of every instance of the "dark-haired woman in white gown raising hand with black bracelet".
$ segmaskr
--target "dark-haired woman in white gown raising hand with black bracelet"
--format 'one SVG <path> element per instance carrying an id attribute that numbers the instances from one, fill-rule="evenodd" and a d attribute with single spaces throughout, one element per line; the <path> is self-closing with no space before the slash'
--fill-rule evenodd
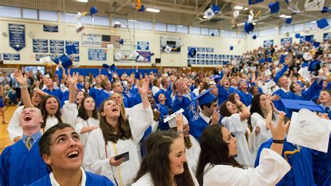
<path id="1" fill-rule="evenodd" d="M 196 177 L 200 185 L 276 185 L 290 171 L 281 153 L 289 122 L 284 125 L 281 114 L 277 127 L 270 123 L 274 142 L 263 149 L 260 164 L 254 169 L 242 169 L 235 160 L 237 139 L 223 125 L 210 125 L 200 138 L 201 153 Z"/>

